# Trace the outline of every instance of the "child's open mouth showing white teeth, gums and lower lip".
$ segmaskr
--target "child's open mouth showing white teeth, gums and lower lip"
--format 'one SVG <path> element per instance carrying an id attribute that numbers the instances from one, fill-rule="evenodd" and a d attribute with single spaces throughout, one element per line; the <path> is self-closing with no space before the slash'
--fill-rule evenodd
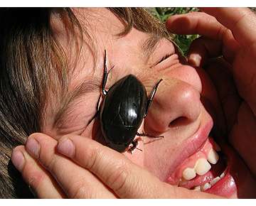
<path id="1" fill-rule="evenodd" d="M 224 145 L 219 146 L 210 134 L 196 153 L 186 158 L 167 181 L 189 190 L 231 197 L 237 191 L 233 175 L 230 175 L 232 159 L 232 152 Z M 174 183 L 175 180 L 178 183 Z"/>

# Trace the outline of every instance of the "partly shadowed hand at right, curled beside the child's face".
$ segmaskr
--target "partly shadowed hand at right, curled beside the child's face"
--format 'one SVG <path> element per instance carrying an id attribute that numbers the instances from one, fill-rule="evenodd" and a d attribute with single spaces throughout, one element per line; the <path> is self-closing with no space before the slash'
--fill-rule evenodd
<path id="1" fill-rule="evenodd" d="M 171 16 L 166 26 L 172 33 L 201 35 L 191 45 L 188 62 L 204 67 L 212 78 L 228 139 L 256 176 L 256 16 L 249 9 L 201 10 L 205 13 Z M 216 57 L 222 58 L 210 60 Z"/>

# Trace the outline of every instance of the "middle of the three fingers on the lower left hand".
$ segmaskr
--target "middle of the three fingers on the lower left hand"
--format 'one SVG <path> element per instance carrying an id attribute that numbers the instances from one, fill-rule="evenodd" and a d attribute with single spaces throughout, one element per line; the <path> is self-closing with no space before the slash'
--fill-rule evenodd
<path id="1" fill-rule="evenodd" d="M 70 198 L 114 198 L 112 192 L 88 170 L 55 153 L 57 141 L 45 134 L 28 137 L 26 151 L 41 163 Z"/>

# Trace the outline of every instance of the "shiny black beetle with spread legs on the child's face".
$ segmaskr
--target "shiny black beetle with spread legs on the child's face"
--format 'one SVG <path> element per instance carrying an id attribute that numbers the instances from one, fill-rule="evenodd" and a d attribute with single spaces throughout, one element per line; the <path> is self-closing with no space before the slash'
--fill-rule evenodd
<path id="1" fill-rule="evenodd" d="M 134 75 L 123 77 L 114 83 L 110 90 L 106 91 L 105 86 L 110 71 L 107 72 L 107 53 L 105 51 L 105 68 L 102 80 L 102 94 L 105 98 L 100 108 L 102 134 L 110 148 L 123 152 L 132 143 L 130 149 L 128 148 L 128 151 L 132 152 L 137 146 L 137 141 L 134 141 L 136 135 L 150 136 L 144 133 L 139 134 L 137 130 L 148 112 L 161 80 L 156 83 L 149 98 L 146 94 L 146 88 Z"/>

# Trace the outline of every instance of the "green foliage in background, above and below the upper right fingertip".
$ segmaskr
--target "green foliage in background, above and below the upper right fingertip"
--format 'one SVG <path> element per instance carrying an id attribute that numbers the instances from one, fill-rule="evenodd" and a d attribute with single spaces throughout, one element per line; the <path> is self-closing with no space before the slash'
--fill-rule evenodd
<path id="1" fill-rule="evenodd" d="M 198 11 L 195 7 L 154 7 L 151 8 L 150 11 L 159 18 L 160 21 L 166 21 L 169 16 L 188 13 L 193 11 Z M 183 54 L 186 55 L 188 53 L 188 48 L 191 45 L 191 42 L 198 38 L 197 34 L 193 35 L 176 35 L 174 34 L 174 41 L 178 45 L 179 48 L 183 51 Z"/>

